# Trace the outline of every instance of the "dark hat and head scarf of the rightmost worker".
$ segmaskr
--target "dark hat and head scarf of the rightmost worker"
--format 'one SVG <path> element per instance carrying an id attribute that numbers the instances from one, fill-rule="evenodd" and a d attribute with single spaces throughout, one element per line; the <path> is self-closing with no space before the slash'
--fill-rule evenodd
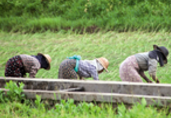
<path id="1" fill-rule="evenodd" d="M 149 57 L 156 59 L 160 66 L 164 66 L 164 64 L 167 64 L 167 56 L 169 55 L 169 51 L 166 47 L 157 45 L 153 45 L 154 50 L 149 52 Z"/>

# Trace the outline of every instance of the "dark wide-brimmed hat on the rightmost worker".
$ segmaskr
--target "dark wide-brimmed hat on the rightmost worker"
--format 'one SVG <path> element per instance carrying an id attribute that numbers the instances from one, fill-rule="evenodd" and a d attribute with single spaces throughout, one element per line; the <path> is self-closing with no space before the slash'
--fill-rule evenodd
<path id="1" fill-rule="evenodd" d="M 159 47 L 157 45 L 153 45 L 153 48 L 154 50 L 158 50 L 163 54 L 163 56 L 165 57 L 165 64 L 167 64 L 167 56 L 169 55 L 169 51 L 167 50 L 167 48 L 164 46 Z"/>

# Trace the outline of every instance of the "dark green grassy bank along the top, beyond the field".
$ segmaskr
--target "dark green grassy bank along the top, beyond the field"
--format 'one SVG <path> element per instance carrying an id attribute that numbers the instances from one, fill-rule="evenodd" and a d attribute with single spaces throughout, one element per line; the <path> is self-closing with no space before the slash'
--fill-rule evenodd
<path id="1" fill-rule="evenodd" d="M 171 31 L 170 0 L 1 0 L 0 29 Z"/>

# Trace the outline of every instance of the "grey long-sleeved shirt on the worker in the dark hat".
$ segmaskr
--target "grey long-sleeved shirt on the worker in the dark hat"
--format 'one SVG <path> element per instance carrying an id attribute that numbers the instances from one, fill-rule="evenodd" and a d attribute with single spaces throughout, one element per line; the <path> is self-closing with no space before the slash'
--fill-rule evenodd
<path id="1" fill-rule="evenodd" d="M 135 54 L 138 65 L 142 71 L 149 72 L 149 75 L 156 75 L 158 61 L 149 57 L 149 52 Z"/>

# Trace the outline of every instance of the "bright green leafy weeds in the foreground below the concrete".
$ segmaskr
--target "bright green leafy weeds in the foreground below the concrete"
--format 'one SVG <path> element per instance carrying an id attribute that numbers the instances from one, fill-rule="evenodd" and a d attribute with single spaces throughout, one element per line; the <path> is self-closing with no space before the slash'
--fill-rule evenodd
<path id="1" fill-rule="evenodd" d="M 131 108 L 126 108 L 124 104 L 118 105 L 118 108 L 113 108 L 112 104 L 93 104 L 93 103 L 74 103 L 74 100 L 61 100 L 54 107 L 45 105 L 46 102 L 41 101 L 40 96 L 36 96 L 35 101 L 29 101 L 23 98 L 23 94 L 19 95 L 23 84 L 17 87 L 15 83 L 10 81 L 6 88 L 9 89 L 7 96 L 0 92 L 0 116 L 7 118 L 167 118 L 171 117 L 168 109 L 157 109 L 152 106 L 146 107 L 145 99 L 141 103 L 135 103 Z M 16 94 L 17 93 L 17 94 Z M 9 96 L 11 94 L 11 96 Z M 19 99 L 11 99 L 19 98 Z M 22 98 L 22 99 L 21 99 Z M 8 100 L 7 100 L 8 99 Z M 20 100 L 23 100 L 21 103 Z M 4 102 L 5 101 L 5 102 Z M 160 112 L 158 112 L 160 111 Z"/>

